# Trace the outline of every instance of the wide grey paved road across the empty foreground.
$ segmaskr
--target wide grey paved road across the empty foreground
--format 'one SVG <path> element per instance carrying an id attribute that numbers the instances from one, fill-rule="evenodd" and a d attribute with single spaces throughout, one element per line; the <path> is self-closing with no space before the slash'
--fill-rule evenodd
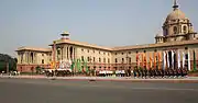
<path id="1" fill-rule="evenodd" d="M 198 83 L 0 79 L 0 103 L 198 103 L 197 94 Z"/>

